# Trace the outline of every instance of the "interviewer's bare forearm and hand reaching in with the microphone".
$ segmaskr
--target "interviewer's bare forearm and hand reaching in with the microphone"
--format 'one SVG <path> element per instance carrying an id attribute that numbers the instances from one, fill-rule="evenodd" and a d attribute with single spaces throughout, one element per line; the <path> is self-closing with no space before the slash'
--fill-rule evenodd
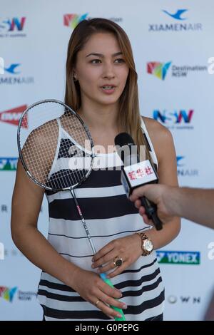
<path id="1" fill-rule="evenodd" d="M 136 202 L 144 220 L 145 210 L 139 197 L 145 195 L 158 205 L 158 216 L 163 222 L 179 216 L 214 229 L 214 190 L 166 185 L 146 185 L 134 190 L 131 200 Z"/>

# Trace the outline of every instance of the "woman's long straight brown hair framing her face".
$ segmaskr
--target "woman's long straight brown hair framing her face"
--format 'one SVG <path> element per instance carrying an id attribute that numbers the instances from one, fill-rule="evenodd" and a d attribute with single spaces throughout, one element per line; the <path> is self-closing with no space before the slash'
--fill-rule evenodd
<path id="1" fill-rule="evenodd" d="M 76 56 L 93 33 L 107 32 L 116 36 L 118 44 L 129 68 L 126 86 L 119 101 L 118 125 L 131 134 L 137 145 L 146 145 L 141 129 L 141 115 L 138 102 L 138 74 L 133 60 L 131 43 L 125 31 L 113 21 L 107 19 L 83 20 L 73 30 L 68 43 L 66 62 L 66 95 L 65 103 L 74 110 L 81 107 L 81 92 L 78 81 L 73 80 L 73 68 Z M 147 156 L 150 157 L 148 150 Z"/>

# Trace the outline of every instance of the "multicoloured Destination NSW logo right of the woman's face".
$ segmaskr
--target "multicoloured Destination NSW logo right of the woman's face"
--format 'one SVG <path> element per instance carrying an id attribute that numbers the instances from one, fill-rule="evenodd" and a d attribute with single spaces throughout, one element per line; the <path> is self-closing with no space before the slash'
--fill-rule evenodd
<path id="1" fill-rule="evenodd" d="M 170 76 L 179 78 L 179 77 L 187 77 L 190 74 L 195 72 L 208 72 L 208 66 L 199 66 L 199 65 L 183 65 L 178 66 L 173 64 L 171 61 L 167 63 L 161 63 L 158 61 L 151 61 L 146 63 L 146 71 L 153 76 L 164 81 L 166 75 L 170 73 Z"/>

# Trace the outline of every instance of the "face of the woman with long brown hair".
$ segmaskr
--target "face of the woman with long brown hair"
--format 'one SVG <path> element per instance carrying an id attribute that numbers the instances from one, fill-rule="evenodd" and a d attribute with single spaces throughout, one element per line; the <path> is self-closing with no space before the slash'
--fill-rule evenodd
<path id="1" fill-rule="evenodd" d="M 111 105 L 126 85 L 128 66 L 113 33 L 94 33 L 78 52 L 74 75 L 82 102 Z"/>

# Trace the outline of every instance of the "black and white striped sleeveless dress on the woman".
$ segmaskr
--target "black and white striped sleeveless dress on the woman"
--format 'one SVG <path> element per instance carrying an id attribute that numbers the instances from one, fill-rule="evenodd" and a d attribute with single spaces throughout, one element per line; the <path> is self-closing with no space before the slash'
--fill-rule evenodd
<path id="1" fill-rule="evenodd" d="M 150 145 L 153 161 L 157 164 L 156 154 L 143 121 L 142 129 Z M 59 140 L 68 138 L 62 128 L 59 134 Z M 116 156 L 116 153 L 98 155 L 96 159 L 102 169 L 92 170 L 88 179 L 75 190 L 97 250 L 113 239 L 149 228 L 126 197 L 121 185 L 121 171 L 116 169 L 116 166 L 121 165 L 121 160 Z M 57 159 L 54 162 L 57 165 Z M 52 170 L 54 171 L 53 168 Z M 93 271 L 93 254 L 71 192 L 47 191 L 46 197 L 49 202 L 49 242 L 68 261 Z M 128 305 L 128 309 L 124 310 L 127 321 L 153 319 L 163 313 L 164 289 L 156 252 L 138 258 L 131 267 L 111 280 L 123 293 L 120 300 Z M 108 319 L 106 314 L 82 299 L 71 287 L 46 272 L 41 273 L 38 299 L 46 320 Z"/>

